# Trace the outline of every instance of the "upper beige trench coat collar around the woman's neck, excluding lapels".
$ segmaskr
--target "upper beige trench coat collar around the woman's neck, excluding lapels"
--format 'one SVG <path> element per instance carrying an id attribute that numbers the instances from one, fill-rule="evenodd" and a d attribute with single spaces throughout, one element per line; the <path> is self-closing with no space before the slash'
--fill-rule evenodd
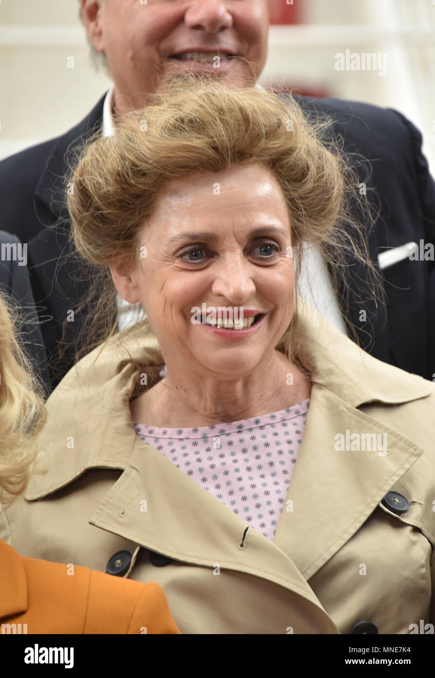
<path id="1" fill-rule="evenodd" d="M 314 365 L 307 424 L 320 400 L 323 407 L 327 401 L 333 407 L 341 401 L 347 407 L 346 416 L 361 416 L 361 412 L 354 410 L 365 403 L 394 405 L 432 393 L 431 382 L 381 363 L 361 351 L 312 306 L 301 299 L 298 304 L 302 343 Z M 284 347 L 285 339 L 277 348 Z M 138 369 L 143 366 L 149 379 L 158 376 L 164 363 L 159 342 L 145 318 L 72 367 L 47 400 L 48 417 L 41 435 L 43 452 L 39 464 L 42 473 L 35 473 L 30 479 L 25 498 L 47 496 L 68 485 L 87 468 L 125 470 L 137 439 L 128 403 Z M 317 431 L 324 431 L 331 417 L 326 413 L 319 415 L 323 418 Z M 304 447 L 307 439 L 308 434 L 304 433 Z M 320 446 L 322 439 L 320 433 Z M 300 453 L 301 450 L 298 460 Z"/>

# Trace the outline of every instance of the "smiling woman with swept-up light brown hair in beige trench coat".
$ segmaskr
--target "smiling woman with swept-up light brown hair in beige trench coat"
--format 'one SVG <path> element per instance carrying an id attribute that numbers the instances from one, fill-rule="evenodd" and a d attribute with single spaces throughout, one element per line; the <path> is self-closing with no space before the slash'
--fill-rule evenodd
<path id="1" fill-rule="evenodd" d="M 341 275 L 346 248 L 366 260 L 326 125 L 265 89 L 175 79 L 67 178 L 106 283 L 85 330 L 100 345 L 49 398 L 49 471 L 0 530 L 159 583 L 182 633 L 435 620 L 435 386 L 297 294 L 305 243 Z M 147 314 L 122 332 L 117 291 Z M 365 444 L 343 454 L 337 435 Z"/>

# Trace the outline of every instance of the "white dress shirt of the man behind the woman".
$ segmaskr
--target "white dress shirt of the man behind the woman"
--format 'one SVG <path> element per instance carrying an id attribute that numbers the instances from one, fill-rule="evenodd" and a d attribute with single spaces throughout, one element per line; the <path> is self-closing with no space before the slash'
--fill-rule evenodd
<path id="1" fill-rule="evenodd" d="M 257 87 L 261 87 L 257 83 Z M 112 136 L 115 134 L 115 123 L 113 121 L 113 87 L 106 94 L 103 106 L 102 117 L 102 136 Z M 308 247 L 304 245 L 304 258 L 302 270 L 299 273 L 298 292 L 308 303 L 312 304 L 319 313 L 325 316 L 341 332 L 348 334 L 344 319 L 341 315 L 337 298 L 335 297 L 331 278 L 329 277 L 327 265 L 320 253 L 318 247 Z M 117 295 L 117 304 L 119 308 L 119 330 L 129 327 L 139 319 L 146 317 L 146 313 L 140 302 L 129 304 L 119 294 Z"/>

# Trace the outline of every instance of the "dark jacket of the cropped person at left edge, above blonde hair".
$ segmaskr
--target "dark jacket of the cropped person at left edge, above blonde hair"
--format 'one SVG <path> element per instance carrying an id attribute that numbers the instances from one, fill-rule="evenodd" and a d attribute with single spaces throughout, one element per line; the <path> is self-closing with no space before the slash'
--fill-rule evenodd
<path id="1" fill-rule="evenodd" d="M 15 235 L 0 231 L 0 248 L 3 244 L 19 245 L 20 241 Z M 9 298 L 9 302 L 12 302 L 16 310 L 18 342 L 33 364 L 33 369 L 41 384 L 46 388 L 46 384 L 50 383 L 47 354 L 28 279 L 27 266 L 14 260 L 13 253 L 8 247 L 4 248 L 4 255 L 1 256 L 0 252 L 0 292 L 4 298 Z"/>

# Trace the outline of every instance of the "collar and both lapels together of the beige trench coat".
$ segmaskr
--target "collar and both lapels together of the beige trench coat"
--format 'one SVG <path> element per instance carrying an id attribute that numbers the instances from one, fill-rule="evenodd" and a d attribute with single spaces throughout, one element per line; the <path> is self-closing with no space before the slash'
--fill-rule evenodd
<path id="1" fill-rule="evenodd" d="M 88 468 L 119 468 L 123 473 L 96 507 L 92 525 L 173 559 L 276 578 L 318 606 L 306 579 L 358 530 L 423 452 L 357 408 L 413 401 L 434 387 L 364 353 L 307 304 L 299 303 L 299 317 L 315 369 L 304 438 L 273 542 L 247 530 L 231 509 L 136 435 L 128 403 L 138 365 L 150 376 L 164 362 L 148 319 L 89 353 L 50 396 L 41 458 L 47 473 L 33 475 L 26 500 L 56 492 Z M 389 454 L 332 453 L 335 435 L 344 428 L 386 433 Z"/>

